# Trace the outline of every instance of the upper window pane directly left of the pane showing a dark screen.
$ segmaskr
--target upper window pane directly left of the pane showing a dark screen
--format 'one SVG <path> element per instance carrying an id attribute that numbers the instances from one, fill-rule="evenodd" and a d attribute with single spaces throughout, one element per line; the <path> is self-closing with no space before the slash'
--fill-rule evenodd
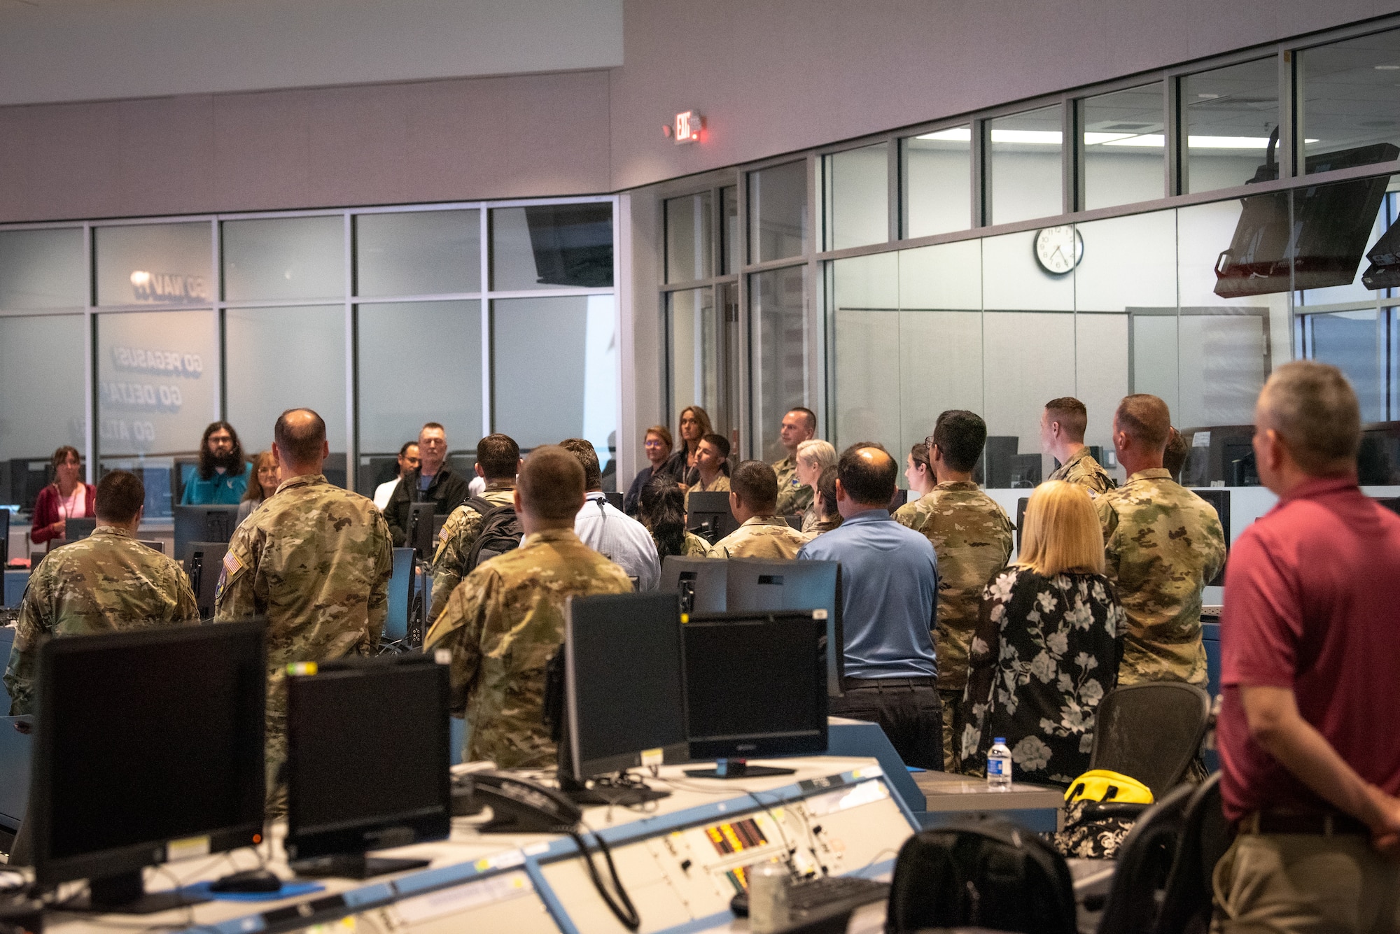
<path id="1" fill-rule="evenodd" d="M 482 289 L 480 211 L 360 214 L 354 240 L 357 295 Z"/>

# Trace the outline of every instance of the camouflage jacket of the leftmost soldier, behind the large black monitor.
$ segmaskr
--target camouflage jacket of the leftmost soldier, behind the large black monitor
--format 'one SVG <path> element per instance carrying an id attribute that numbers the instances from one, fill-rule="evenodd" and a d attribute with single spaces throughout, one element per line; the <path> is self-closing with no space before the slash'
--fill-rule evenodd
<path id="1" fill-rule="evenodd" d="M 199 605 L 181 566 L 113 526 L 55 548 L 29 575 L 4 673 L 10 716 L 34 712 L 39 646 L 52 636 L 81 636 L 199 622 Z"/>

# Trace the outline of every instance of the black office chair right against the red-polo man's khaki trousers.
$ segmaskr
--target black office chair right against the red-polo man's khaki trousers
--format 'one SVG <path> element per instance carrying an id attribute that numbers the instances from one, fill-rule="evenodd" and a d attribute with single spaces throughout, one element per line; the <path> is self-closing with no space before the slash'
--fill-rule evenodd
<path id="1" fill-rule="evenodd" d="M 1182 842 L 1166 877 L 1155 934 L 1205 934 L 1210 930 L 1211 877 L 1229 845 L 1231 829 L 1221 808 L 1221 773 L 1212 772 L 1186 804 Z"/>

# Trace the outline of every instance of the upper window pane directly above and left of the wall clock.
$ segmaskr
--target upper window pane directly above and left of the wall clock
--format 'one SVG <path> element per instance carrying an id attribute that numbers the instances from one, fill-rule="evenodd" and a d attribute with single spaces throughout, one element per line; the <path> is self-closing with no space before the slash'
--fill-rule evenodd
<path id="1" fill-rule="evenodd" d="M 1064 213 L 1061 106 L 991 120 L 991 222 Z"/>

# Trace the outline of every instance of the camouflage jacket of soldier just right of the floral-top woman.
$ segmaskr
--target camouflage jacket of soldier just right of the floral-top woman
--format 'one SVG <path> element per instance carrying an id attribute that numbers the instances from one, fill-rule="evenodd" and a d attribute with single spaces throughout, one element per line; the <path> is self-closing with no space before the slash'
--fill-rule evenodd
<path id="1" fill-rule="evenodd" d="M 1201 590 L 1225 563 L 1215 509 L 1161 467 L 1140 470 L 1095 506 L 1103 573 L 1127 614 L 1119 684 L 1205 684 Z"/>

